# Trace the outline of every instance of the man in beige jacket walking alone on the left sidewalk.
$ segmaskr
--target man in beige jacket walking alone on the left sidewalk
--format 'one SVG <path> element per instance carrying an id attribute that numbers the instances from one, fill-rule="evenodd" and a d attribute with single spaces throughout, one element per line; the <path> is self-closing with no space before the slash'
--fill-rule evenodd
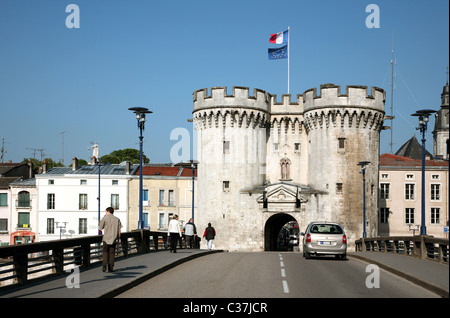
<path id="1" fill-rule="evenodd" d="M 106 214 L 100 221 L 100 228 L 104 231 L 103 234 L 103 272 L 114 271 L 114 258 L 116 254 L 116 243 L 120 242 L 120 229 L 122 223 L 120 219 L 114 216 L 114 209 L 112 207 L 106 208 Z"/>

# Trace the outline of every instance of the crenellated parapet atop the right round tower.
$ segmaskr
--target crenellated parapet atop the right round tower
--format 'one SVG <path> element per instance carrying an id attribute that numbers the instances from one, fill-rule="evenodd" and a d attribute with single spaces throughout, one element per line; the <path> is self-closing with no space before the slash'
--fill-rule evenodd
<path id="1" fill-rule="evenodd" d="M 334 107 L 367 107 L 384 112 L 386 93 L 383 89 L 372 87 L 370 94 L 367 86 L 347 85 L 345 94 L 341 94 L 341 86 L 334 84 L 320 85 L 320 94 L 316 88 L 303 93 L 304 112 L 318 108 Z"/>

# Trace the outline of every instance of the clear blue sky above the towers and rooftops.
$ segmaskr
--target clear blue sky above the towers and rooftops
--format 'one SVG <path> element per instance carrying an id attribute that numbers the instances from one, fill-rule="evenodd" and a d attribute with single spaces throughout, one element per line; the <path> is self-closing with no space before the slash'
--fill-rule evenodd
<path id="1" fill-rule="evenodd" d="M 69 4 L 80 28 L 67 28 Z M 380 10 L 367 28 L 366 6 Z M 278 8 L 277 8 L 278 7 Z M 272 61 L 272 33 L 291 28 L 290 93 L 320 84 L 378 86 L 390 114 L 392 32 L 394 152 L 414 134 L 418 109 L 438 110 L 449 64 L 448 0 L 151 1 L 1 0 L 0 138 L 6 161 L 88 160 L 138 149 L 130 107 L 147 107 L 144 152 L 170 162 L 179 127 L 192 134 L 192 93 L 214 86 L 287 92 L 287 61 Z M 389 125 L 389 122 L 386 122 Z M 434 126 L 430 120 L 428 131 Z M 64 134 L 61 134 L 64 132 Z M 64 136 L 64 148 L 62 147 Z M 431 133 L 427 149 L 432 152 Z M 381 133 L 381 153 L 390 132 Z M 39 158 L 40 153 L 36 156 Z"/>

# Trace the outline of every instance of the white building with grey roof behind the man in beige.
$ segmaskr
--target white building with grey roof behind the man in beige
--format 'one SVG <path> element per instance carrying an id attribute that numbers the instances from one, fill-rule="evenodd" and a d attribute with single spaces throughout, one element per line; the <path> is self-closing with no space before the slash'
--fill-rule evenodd
<path id="1" fill-rule="evenodd" d="M 100 219 L 105 209 L 112 206 L 128 230 L 128 182 L 138 165 L 129 162 L 54 167 L 36 175 L 38 192 L 37 241 L 80 237 L 98 234 Z M 100 177 L 100 178 L 99 178 Z M 100 207 L 99 207 L 100 179 Z M 137 195 L 137 194 L 136 194 Z"/>

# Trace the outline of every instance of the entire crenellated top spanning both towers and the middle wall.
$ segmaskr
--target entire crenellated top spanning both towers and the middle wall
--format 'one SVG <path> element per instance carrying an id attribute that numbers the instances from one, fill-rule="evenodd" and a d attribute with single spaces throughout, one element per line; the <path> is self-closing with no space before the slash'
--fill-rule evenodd
<path id="1" fill-rule="evenodd" d="M 273 126 L 282 121 L 295 127 L 295 123 L 305 124 L 307 130 L 321 126 L 373 127 L 379 129 L 384 120 L 386 93 L 378 87 L 347 85 L 345 94 L 341 86 L 320 85 L 317 88 L 297 94 L 292 101 L 290 94 L 277 95 L 261 89 L 233 86 L 228 94 L 227 87 L 203 88 L 194 92 L 194 119 L 197 128 L 219 127 L 219 123 L 230 127 L 262 127 L 267 122 Z M 228 124 L 227 124 L 228 123 Z M 362 123 L 362 124 L 361 124 Z M 361 124 L 361 125 L 360 125 Z M 287 126 L 286 126 L 287 127 Z"/>

